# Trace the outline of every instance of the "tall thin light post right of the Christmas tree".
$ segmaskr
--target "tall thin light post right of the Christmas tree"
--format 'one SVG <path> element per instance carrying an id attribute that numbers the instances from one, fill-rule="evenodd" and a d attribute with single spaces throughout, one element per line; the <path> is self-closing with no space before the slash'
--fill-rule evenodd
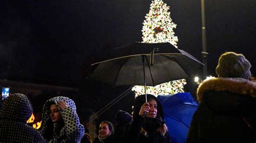
<path id="1" fill-rule="evenodd" d="M 205 28 L 205 1 L 201 0 L 201 19 L 202 19 L 202 47 L 203 63 L 204 63 L 204 78 L 207 77 L 207 50 L 206 50 L 206 28 Z"/>

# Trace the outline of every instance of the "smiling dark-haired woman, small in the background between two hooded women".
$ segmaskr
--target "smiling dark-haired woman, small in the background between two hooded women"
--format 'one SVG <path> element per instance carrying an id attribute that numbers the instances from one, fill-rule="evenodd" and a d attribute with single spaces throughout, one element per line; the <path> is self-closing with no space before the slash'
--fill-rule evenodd
<path id="1" fill-rule="evenodd" d="M 113 140 L 113 125 L 109 121 L 102 121 L 102 123 L 99 124 L 99 135 L 97 138 L 93 140 L 93 143 L 112 143 Z"/>

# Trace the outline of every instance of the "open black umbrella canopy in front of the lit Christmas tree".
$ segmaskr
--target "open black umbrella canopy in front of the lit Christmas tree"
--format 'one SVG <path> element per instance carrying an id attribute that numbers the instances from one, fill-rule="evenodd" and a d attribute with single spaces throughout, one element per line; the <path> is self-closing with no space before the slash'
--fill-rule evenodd
<path id="1" fill-rule="evenodd" d="M 116 85 L 150 85 L 188 78 L 203 63 L 169 42 L 134 42 L 109 49 L 106 58 L 92 64 L 89 80 Z M 144 78 L 145 76 L 145 78 Z"/>

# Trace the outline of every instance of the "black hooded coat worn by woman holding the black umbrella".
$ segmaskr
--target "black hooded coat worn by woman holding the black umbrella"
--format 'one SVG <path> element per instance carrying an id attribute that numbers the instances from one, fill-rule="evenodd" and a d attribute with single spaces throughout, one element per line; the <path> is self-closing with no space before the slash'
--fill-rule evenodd
<path id="1" fill-rule="evenodd" d="M 126 142 L 134 143 L 165 143 L 170 142 L 169 134 L 161 135 L 157 128 L 164 124 L 164 111 L 157 97 L 147 95 L 147 101 L 153 98 L 157 102 L 157 117 L 145 118 L 139 115 L 141 106 L 145 103 L 145 95 L 138 96 L 133 106 L 133 121 L 126 130 Z"/>

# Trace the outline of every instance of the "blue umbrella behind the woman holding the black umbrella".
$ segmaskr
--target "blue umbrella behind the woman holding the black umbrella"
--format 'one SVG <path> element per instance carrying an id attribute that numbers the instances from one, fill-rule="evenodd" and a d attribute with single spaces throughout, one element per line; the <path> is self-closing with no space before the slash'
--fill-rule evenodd
<path id="1" fill-rule="evenodd" d="M 165 123 L 168 127 L 171 142 L 186 142 L 188 128 L 198 102 L 190 92 L 157 97 L 164 109 Z"/>

